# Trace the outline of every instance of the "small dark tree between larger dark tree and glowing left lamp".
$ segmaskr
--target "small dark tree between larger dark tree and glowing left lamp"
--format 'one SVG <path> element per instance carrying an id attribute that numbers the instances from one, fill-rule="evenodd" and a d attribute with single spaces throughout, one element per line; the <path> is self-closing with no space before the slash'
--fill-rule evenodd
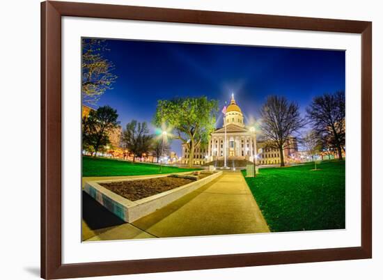
<path id="1" fill-rule="evenodd" d="M 149 134 L 146 122 L 139 123 L 137 120 L 132 120 L 127 123 L 123 132 L 123 143 L 125 148 L 133 154 L 133 162 L 136 161 L 136 157 L 142 157 L 144 153 L 150 151 L 152 141 L 153 135 Z"/>

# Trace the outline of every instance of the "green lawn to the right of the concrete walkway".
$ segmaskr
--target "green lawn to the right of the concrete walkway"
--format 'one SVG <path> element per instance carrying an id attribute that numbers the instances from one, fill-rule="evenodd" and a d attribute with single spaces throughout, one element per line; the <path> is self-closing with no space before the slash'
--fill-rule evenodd
<path id="1" fill-rule="evenodd" d="M 313 166 L 260 169 L 246 178 L 271 231 L 345 228 L 345 162 Z"/>

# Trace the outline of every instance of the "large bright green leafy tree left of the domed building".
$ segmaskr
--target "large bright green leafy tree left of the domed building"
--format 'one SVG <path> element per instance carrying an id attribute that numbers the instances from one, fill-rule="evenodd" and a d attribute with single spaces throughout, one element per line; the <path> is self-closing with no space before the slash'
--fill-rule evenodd
<path id="1" fill-rule="evenodd" d="M 154 123 L 173 129 L 173 139 L 180 139 L 189 149 L 189 166 L 192 166 L 194 148 L 208 143 L 215 129 L 217 111 L 217 100 L 205 96 L 159 100 Z"/>

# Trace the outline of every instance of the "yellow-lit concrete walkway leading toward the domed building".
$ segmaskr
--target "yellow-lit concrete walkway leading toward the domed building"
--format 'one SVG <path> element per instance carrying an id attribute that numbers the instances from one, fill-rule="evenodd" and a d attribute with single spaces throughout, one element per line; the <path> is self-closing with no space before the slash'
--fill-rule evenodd
<path id="1" fill-rule="evenodd" d="M 95 231 L 88 241 L 265 232 L 269 228 L 242 174 L 227 172 L 132 224 Z"/>

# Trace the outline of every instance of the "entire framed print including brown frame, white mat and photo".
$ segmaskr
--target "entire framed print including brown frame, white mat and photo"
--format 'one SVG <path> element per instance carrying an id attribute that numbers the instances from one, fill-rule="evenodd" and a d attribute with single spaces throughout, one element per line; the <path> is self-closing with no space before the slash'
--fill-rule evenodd
<path id="1" fill-rule="evenodd" d="M 42 3 L 45 279 L 371 258 L 372 24 Z"/>

